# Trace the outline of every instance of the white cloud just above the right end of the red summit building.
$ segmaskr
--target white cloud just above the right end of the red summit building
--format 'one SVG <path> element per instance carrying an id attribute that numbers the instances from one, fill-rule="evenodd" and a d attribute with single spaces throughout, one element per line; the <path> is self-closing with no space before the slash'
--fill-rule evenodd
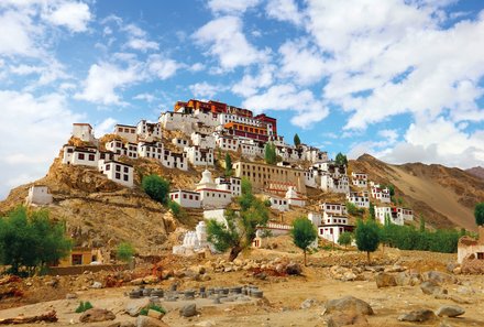
<path id="1" fill-rule="evenodd" d="M 294 110 L 297 115 L 290 122 L 300 128 L 309 128 L 329 115 L 329 109 L 310 90 L 298 90 L 289 84 L 272 86 L 266 92 L 249 97 L 242 106 L 255 111 Z"/>

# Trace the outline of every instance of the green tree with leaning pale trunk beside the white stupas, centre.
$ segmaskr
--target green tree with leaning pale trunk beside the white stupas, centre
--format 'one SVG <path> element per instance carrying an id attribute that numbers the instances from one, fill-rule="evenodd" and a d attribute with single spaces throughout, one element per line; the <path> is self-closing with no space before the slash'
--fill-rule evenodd
<path id="1" fill-rule="evenodd" d="M 268 221 L 268 209 L 264 201 L 252 193 L 251 183 L 242 179 L 242 195 L 237 199 L 240 211 L 226 210 L 226 222 L 210 219 L 207 222 L 207 238 L 219 251 L 230 249 L 229 261 L 235 260 L 240 252 L 252 246 L 257 226 Z"/>

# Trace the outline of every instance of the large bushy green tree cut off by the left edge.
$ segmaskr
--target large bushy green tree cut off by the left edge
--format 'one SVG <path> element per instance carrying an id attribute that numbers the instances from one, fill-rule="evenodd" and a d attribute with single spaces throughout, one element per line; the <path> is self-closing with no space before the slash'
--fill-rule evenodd
<path id="1" fill-rule="evenodd" d="M 65 224 L 52 221 L 47 210 L 18 207 L 0 218 L 0 264 L 10 265 L 13 274 L 25 269 L 30 275 L 55 264 L 73 247 L 65 232 Z"/>

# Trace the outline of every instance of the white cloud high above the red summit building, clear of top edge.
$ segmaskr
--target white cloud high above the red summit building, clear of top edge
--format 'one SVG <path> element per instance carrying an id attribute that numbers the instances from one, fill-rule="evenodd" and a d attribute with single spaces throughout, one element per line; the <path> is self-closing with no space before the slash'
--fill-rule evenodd
<path id="1" fill-rule="evenodd" d="M 219 59 L 223 69 L 266 62 L 267 51 L 258 51 L 248 42 L 242 32 L 242 21 L 237 17 L 222 17 L 208 22 L 191 37 L 208 47 L 208 54 Z"/>

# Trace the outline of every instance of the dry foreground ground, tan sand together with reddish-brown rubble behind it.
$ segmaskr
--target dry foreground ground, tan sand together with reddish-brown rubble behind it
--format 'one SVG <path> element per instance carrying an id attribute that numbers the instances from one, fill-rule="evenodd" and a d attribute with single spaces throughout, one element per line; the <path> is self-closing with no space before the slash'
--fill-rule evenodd
<path id="1" fill-rule="evenodd" d="M 309 257 L 309 266 L 302 269 L 301 275 L 272 275 L 261 274 L 262 270 L 239 269 L 238 264 L 258 261 L 258 266 L 277 261 L 300 261 L 301 254 L 296 252 L 290 244 L 282 250 L 251 250 L 243 253 L 240 262 L 232 269 L 222 261 L 226 257 L 211 255 L 206 259 L 197 258 L 165 258 L 164 271 L 170 271 L 172 275 L 160 282 L 154 282 L 146 287 L 170 288 L 174 283 L 178 290 L 198 290 L 206 287 L 224 287 L 234 285 L 256 285 L 263 291 L 263 298 L 251 298 L 249 302 L 228 302 L 213 304 L 211 299 L 196 297 L 193 301 L 178 299 L 176 302 L 162 301 L 161 305 L 168 313 L 163 317 L 168 326 L 327 326 L 324 323 L 329 314 L 324 314 L 324 305 L 329 299 L 351 295 L 369 303 L 374 315 L 366 316 L 367 326 L 416 326 L 415 323 L 398 321 L 397 317 L 404 313 L 428 308 L 437 310 L 442 305 L 458 305 L 465 309 L 465 314 L 459 318 L 435 318 L 430 323 L 419 324 L 424 326 L 484 326 L 482 306 L 484 305 L 484 280 L 477 275 L 454 275 L 449 272 L 453 268 L 455 254 L 439 254 L 418 251 L 399 251 L 395 249 L 381 249 L 373 254 L 373 262 L 367 265 L 365 254 L 349 250 L 319 251 Z M 172 261 L 170 261 L 172 260 Z M 170 263 L 172 262 L 172 263 Z M 127 282 L 119 286 L 105 287 L 107 273 L 87 274 L 70 277 L 46 276 L 36 280 L 30 286 L 35 292 L 26 292 L 25 297 L 9 298 L 3 301 L 2 307 L 16 306 L 0 310 L 0 319 L 18 315 L 40 315 L 55 309 L 58 323 L 53 326 L 84 325 L 79 323 L 80 314 L 74 313 L 79 301 L 89 301 L 97 308 L 107 308 L 116 314 L 116 320 L 102 323 L 89 323 L 89 326 L 120 326 L 121 323 L 134 324 L 134 317 L 125 313 L 128 304 L 142 303 L 143 299 L 131 299 L 125 294 L 133 290 L 133 283 L 139 283 L 139 277 L 148 273 L 138 269 L 128 277 Z M 200 268 L 204 266 L 204 270 Z M 429 271 L 441 272 L 444 279 L 442 288 L 448 294 L 428 295 L 420 287 L 421 281 L 413 284 L 404 282 L 402 285 L 378 288 L 375 283 L 376 271 L 385 270 L 387 274 L 418 275 L 425 280 Z M 194 273 L 198 271 L 197 273 Z M 200 274 L 200 272 L 204 272 Z M 138 277 L 138 279 L 134 279 Z M 129 281 L 134 279 L 134 281 Z M 455 280 L 453 280 L 455 279 Z M 53 286 L 52 281 L 58 283 Z M 94 290 L 91 284 L 99 281 L 103 288 Z M 22 281 L 20 283 L 32 283 Z M 398 282 L 400 284 L 400 282 Z M 47 286 L 46 286 L 47 285 Z M 4 286 L 2 286 L 4 287 Z M 21 286 L 29 288 L 29 286 Z M 51 290 L 51 291 L 50 291 Z M 52 292 L 54 291 L 55 292 Z M 51 292 L 52 301 L 25 305 L 30 301 L 42 299 L 40 293 Z M 36 294 L 35 294 L 36 293 Z M 56 294 L 53 296 L 53 294 Z M 76 294 L 76 298 L 66 299 L 66 294 Z M 47 296 L 47 295 L 46 295 Z M 32 297 L 32 298 L 29 298 Z M 48 296 L 47 296 L 48 297 Z M 311 299 L 311 301 L 307 301 Z M 145 299 L 144 299 L 145 301 Z M 306 301 L 307 308 L 301 308 Z M 180 317 L 178 309 L 187 303 L 197 304 L 197 315 L 190 318 Z M 19 306 L 20 305 L 20 306 Z M 118 324 L 119 323 L 119 324 Z M 448 325 L 440 325 L 440 324 Z M 37 326 L 33 324 L 32 326 Z M 29 325 L 25 325 L 29 326 Z M 124 325 L 123 325 L 124 326 Z M 125 325 L 130 326 L 130 325 Z"/>

